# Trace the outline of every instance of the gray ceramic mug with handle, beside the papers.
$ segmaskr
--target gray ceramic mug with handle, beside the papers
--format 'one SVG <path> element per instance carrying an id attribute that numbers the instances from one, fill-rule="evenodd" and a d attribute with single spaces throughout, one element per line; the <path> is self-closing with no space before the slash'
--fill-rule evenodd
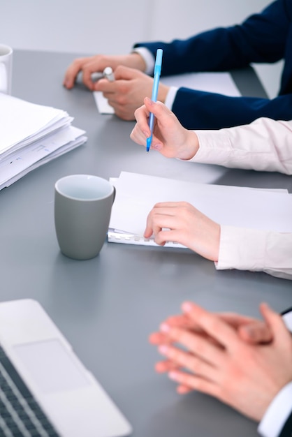
<path id="1" fill-rule="evenodd" d="M 54 225 L 61 253 L 75 260 L 101 251 L 110 223 L 115 188 L 93 175 L 70 175 L 54 186 Z"/>

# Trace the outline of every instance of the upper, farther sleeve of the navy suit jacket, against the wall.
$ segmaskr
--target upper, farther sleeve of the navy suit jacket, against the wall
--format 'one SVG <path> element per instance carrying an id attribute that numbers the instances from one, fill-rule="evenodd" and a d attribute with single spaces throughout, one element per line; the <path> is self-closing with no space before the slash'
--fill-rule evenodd
<path id="1" fill-rule="evenodd" d="M 163 49 L 161 77 L 195 71 L 226 71 L 251 62 L 275 62 L 284 57 L 291 25 L 288 2 L 277 0 L 240 25 L 212 29 L 185 40 L 137 43 L 134 47 L 146 47 L 154 57 L 158 48 Z"/>

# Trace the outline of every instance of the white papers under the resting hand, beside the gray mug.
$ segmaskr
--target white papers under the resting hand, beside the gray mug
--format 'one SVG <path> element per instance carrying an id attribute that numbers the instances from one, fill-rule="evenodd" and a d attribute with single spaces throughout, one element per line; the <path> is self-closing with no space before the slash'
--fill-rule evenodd
<path id="1" fill-rule="evenodd" d="M 292 232 L 292 196 L 286 190 L 194 184 L 129 172 L 112 179 L 112 184 L 116 196 L 110 242 L 155 245 L 143 233 L 147 215 L 157 202 L 189 202 L 221 225 Z"/>

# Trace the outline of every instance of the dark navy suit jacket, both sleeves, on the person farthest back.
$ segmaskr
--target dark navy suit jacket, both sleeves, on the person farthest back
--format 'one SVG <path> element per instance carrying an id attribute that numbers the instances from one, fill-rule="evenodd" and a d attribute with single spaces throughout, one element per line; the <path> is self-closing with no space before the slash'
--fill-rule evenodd
<path id="1" fill-rule="evenodd" d="M 277 0 L 240 25 L 203 32 L 171 43 L 139 43 L 155 56 L 163 49 L 161 76 L 196 71 L 230 71 L 250 63 L 284 59 L 276 98 L 228 97 L 180 88 L 173 112 L 192 129 L 249 124 L 258 117 L 292 119 L 292 1 Z"/>

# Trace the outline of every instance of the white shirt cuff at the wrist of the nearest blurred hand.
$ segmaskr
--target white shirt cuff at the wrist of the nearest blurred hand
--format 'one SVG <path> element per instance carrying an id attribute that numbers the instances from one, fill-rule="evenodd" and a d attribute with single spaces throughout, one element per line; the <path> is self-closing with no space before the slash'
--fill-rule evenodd
<path id="1" fill-rule="evenodd" d="M 279 436 L 292 409 L 292 381 L 285 385 L 272 400 L 263 419 L 258 425 L 258 433 L 263 437 Z"/>

